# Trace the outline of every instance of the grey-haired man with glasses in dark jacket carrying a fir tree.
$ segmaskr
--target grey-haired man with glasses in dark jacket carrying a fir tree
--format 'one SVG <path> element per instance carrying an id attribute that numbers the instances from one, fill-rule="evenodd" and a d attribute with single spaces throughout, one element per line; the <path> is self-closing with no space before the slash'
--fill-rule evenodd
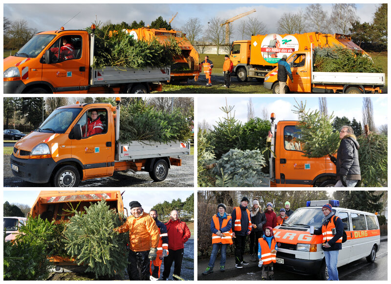
<path id="1" fill-rule="evenodd" d="M 361 180 L 360 164 L 358 162 L 360 145 L 350 126 L 344 125 L 341 128 L 339 138 L 341 143 L 337 152 L 337 183 L 335 187 L 354 187 Z"/>

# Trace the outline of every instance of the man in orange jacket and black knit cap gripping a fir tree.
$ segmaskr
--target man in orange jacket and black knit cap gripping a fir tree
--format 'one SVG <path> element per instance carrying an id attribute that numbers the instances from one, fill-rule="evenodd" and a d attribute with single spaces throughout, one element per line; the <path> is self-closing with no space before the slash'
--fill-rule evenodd
<path id="1" fill-rule="evenodd" d="M 143 211 L 138 201 L 131 201 L 129 206 L 131 216 L 114 231 L 119 233 L 129 231 L 129 280 L 150 280 L 149 264 L 157 256 L 159 229 L 153 218 Z"/>

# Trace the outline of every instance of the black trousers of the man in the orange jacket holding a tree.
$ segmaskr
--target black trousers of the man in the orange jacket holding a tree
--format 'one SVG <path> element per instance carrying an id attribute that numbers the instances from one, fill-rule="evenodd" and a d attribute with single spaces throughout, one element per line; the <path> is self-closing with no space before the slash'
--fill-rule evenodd
<path id="1" fill-rule="evenodd" d="M 132 251 L 128 257 L 129 280 L 150 280 L 150 260 L 147 251 Z M 140 272 L 138 271 L 140 269 Z"/>

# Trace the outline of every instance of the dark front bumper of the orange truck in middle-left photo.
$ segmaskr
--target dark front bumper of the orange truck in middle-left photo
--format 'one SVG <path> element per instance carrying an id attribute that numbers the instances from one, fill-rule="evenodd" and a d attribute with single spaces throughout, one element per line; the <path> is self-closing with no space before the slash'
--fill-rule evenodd
<path id="1" fill-rule="evenodd" d="M 11 164 L 18 167 L 18 171 L 12 169 L 12 173 L 16 177 L 32 183 L 49 182 L 50 176 L 56 167 L 56 162 L 52 158 L 20 159 L 15 157 L 14 154 L 11 155 Z"/>

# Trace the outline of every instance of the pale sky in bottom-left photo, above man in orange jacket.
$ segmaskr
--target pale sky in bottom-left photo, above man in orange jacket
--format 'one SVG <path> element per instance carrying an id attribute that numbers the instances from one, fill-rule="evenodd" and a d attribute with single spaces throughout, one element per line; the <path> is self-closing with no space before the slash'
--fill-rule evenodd
<path id="1" fill-rule="evenodd" d="M 165 200 L 171 202 L 173 199 L 180 198 L 182 201 L 185 201 L 187 197 L 191 196 L 194 193 L 194 190 L 137 190 L 137 189 L 120 189 L 121 193 L 125 191 L 123 194 L 124 206 L 130 209 L 129 202 L 133 200 L 137 200 L 141 203 L 144 210 L 149 212 L 152 206 L 157 203 L 162 203 Z M 3 203 L 8 201 L 10 204 L 12 203 L 21 203 L 27 204 L 30 207 L 34 205 L 35 200 L 38 197 L 40 191 L 37 190 L 29 190 L 29 191 L 21 191 L 21 190 L 4 190 L 3 191 Z"/>

